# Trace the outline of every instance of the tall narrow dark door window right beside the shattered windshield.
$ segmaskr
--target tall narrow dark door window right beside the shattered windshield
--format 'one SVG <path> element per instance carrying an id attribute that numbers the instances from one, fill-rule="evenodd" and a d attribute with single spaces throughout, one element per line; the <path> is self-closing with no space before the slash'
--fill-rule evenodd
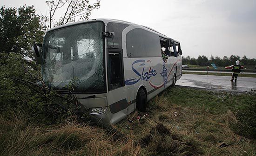
<path id="1" fill-rule="evenodd" d="M 109 90 L 122 86 L 121 54 L 108 53 L 108 84 Z"/>

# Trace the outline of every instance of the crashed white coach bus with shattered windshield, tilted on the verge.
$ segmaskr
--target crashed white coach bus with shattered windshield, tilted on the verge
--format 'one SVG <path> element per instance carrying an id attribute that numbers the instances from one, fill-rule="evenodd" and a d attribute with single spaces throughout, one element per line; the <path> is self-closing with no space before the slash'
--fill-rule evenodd
<path id="1" fill-rule="evenodd" d="M 36 47 L 34 56 L 48 86 L 62 94 L 72 89 L 105 123 L 117 123 L 135 109 L 145 111 L 148 100 L 182 76 L 178 41 L 121 20 L 57 26 L 46 32 L 41 50 Z"/>

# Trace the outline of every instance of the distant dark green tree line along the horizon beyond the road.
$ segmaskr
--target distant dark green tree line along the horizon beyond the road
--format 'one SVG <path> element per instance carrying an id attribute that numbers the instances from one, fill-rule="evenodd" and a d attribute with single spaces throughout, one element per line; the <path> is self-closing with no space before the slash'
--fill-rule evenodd
<path id="1" fill-rule="evenodd" d="M 182 56 L 182 65 L 207 66 L 214 63 L 217 66 L 223 67 L 235 64 L 236 60 L 240 60 L 241 65 L 256 65 L 256 58 L 247 58 L 245 55 L 243 56 L 243 58 L 238 55 L 231 55 L 230 57 L 224 56 L 223 58 L 220 58 L 218 56 L 214 57 L 212 55 L 210 58 L 207 58 L 204 55 L 199 55 L 198 58 Z"/>

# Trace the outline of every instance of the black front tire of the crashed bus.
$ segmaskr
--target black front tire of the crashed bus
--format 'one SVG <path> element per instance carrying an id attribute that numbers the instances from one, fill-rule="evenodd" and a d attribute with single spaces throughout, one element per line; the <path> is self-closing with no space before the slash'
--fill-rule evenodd
<path id="1" fill-rule="evenodd" d="M 137 110 L 144 112 L 147 107 L 147 95 L 143 89 L 139 89 L 136 97 Z"/>

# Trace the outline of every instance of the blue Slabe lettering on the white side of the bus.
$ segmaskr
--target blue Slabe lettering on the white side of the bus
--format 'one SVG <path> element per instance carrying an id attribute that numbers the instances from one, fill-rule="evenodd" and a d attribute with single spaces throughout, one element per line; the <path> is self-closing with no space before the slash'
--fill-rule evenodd
<path id="1" fill-rule="evenodd" d="M 131 78 L 131 79 L 126 80 L 125 81 L 126 85 L 136 84 L 140 80 L 141 81 L 142 80 L 148 81 L 152 76 L 155 76 L 157 74 L 157 72 L 154 70 L 154 67 L 151 68 L 151 65 L 150 65 L 149 70 L 145 71 L 145 62 L 146 62 L 145 59 L 138 59 L 138 60 L 133 62 L 132 70 L 135 72 L 135 74 L 138 76 L 138 78 Z M 151 64 L 150 60 L 148 60 L 147 62 L 150 62 L 150 64 Z M 139 72 L 135 69 L 135 66 L 138 65 L 138 64 L 140 64 L 139 66 L 143 66 L 143 69 L 142 69 L 141 72 Z"/>

